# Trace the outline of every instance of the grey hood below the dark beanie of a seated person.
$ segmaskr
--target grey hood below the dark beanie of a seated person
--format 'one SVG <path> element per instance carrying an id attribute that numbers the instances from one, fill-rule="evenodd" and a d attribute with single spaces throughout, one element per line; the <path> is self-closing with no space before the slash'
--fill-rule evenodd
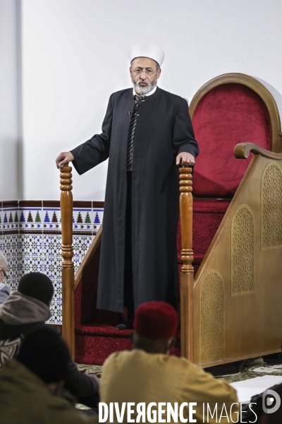
<path id="1" fill-rule="evenodd" d="M 0 306 L 0 319 L 8 325 L 32 324 L 45 322 L 51 317 L 45 303 L 16 291 Z"/>

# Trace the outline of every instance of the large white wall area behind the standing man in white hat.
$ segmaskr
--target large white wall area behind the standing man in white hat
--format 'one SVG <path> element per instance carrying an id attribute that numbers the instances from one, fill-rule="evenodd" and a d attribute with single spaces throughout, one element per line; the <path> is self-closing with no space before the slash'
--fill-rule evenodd
<path id="1" fill-rule="evenodd" d="M 227 72 L 282 93 L 281 0 L 22 0 L 24 199 L 59 199 L 54 161 L 101 131 L 109 95 L 130 86 L 128 47 L 166 52 L 159 86 L 192 99 Z M 75 199 L 103 200 L 106 163 Z"/>

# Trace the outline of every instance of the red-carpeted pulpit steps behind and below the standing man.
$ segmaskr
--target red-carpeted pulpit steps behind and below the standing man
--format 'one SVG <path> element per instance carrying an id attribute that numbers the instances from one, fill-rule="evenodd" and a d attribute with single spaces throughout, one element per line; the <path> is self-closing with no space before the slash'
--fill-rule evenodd
<path id="1" fill-rule="evenodd" d="M 195 272 L 219 228 L 229 201 L 194 199 L 193 247 Z M 130 331 L 117 331 L 123 317 L 115 312 L 96 309 L 99 272 L 98 246 L 75 290 L 75 360 L 78 363 L 102 365 L 113 352 L 131 348 Z M 178 228 L 178 259 L 180 259 L 180 228 Z M 180 264 L 178 265 L 180 273 Z M 126 317 L 126 311 L 125 311 Z M 180 338 L 171 352 L 180 355 Z"/>

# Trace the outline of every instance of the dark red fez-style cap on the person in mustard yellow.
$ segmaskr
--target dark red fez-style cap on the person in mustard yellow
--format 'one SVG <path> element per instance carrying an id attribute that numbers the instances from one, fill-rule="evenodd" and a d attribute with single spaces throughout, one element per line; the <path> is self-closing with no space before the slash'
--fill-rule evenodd
<path id="1" fill-rule="evenodd" d="M 140 336 L 154 339 L 171 338 L 176 334 L 178 316 L 166 302 L 147 302 L 137 307 L 134 329 Z"/>

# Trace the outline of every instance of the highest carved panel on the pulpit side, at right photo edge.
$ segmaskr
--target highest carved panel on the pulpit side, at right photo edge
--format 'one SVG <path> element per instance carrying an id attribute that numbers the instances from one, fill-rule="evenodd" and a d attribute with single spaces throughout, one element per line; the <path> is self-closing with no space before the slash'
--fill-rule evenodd
<path id="1" fill-rule="evenodd" d="M 269 163 L 262 174 L 262 250 L 282 247 L 282 172 Z"/>

